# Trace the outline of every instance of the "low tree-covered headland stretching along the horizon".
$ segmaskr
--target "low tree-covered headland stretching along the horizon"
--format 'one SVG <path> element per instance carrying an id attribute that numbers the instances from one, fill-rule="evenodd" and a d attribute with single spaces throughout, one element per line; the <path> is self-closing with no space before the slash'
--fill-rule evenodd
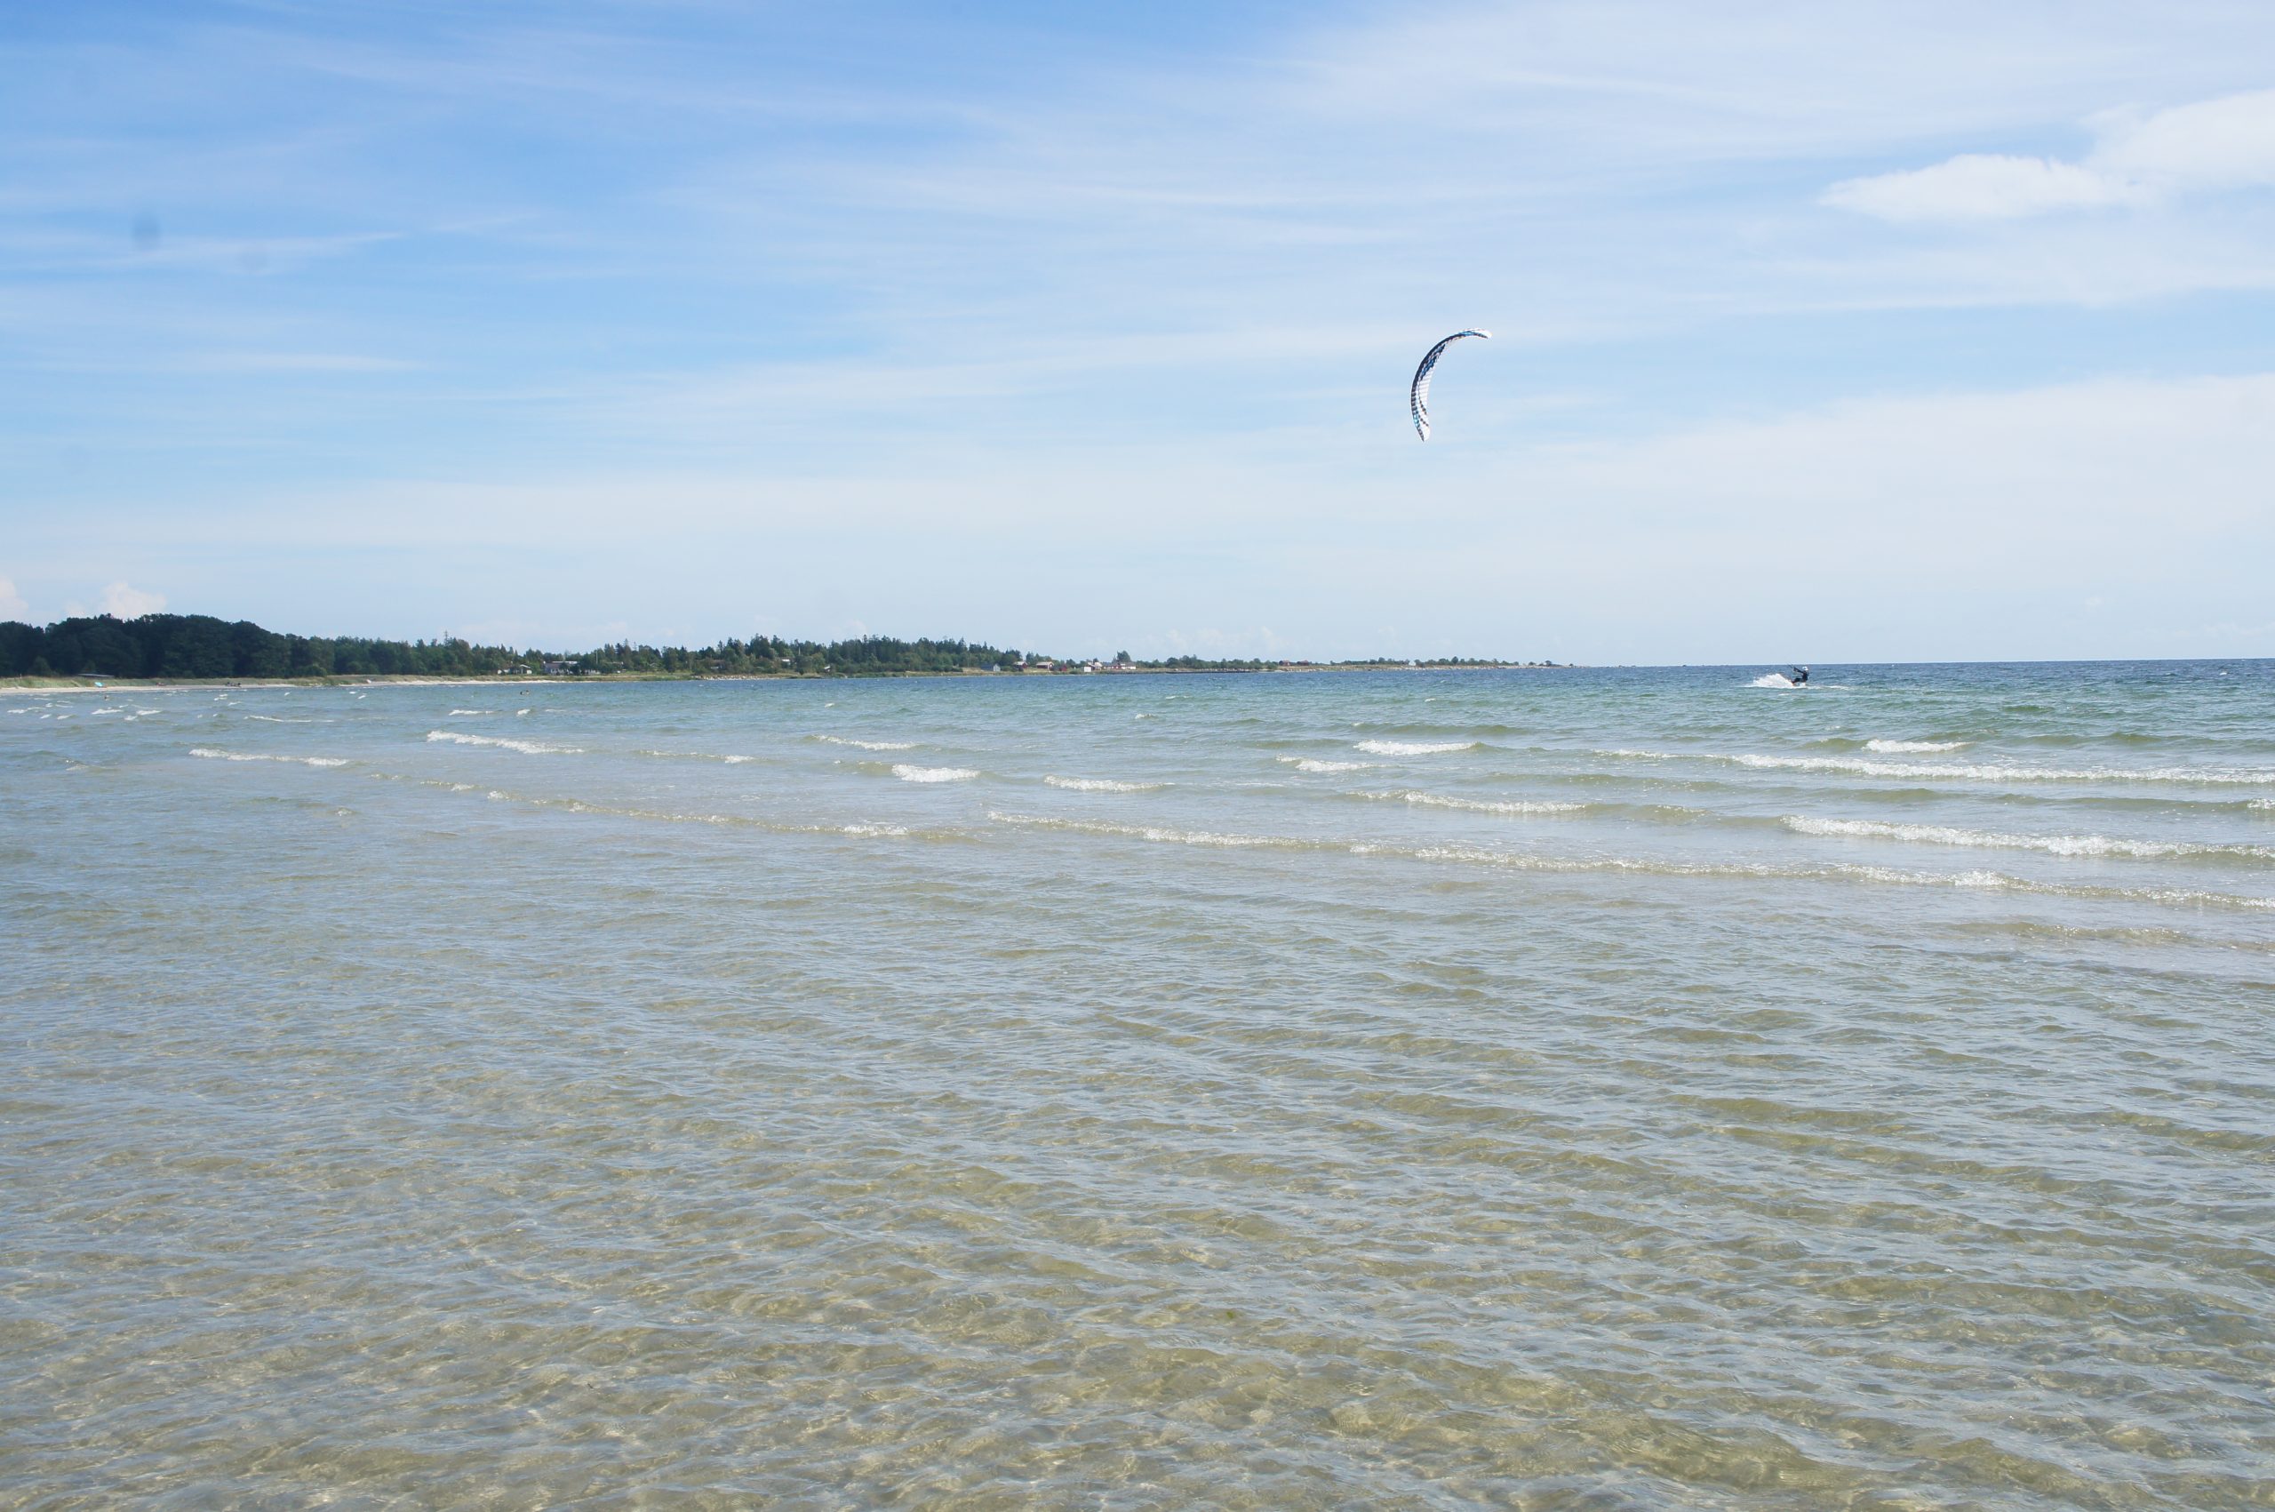
<path id="1" fill-rule="evenodd" d="M 1476 656 L 1372 658 L 1342 663 L 1172 656 L 1044 656 L 974 640 L 783 640 L 755 635 L 687 647 L 617 642 L 592 651 L 532 651 L 441 640 L 287 635 L 250 619 L 143 615 L 139 619 L 59 619 L 50 626 L 0 622 L 0 679 L 105 681 L 328 681 L 328 679 L 703 679 L 703 676 L 956 676 L 956 674 L 1112 674 L 1112 672 L 1360 672 L 1385 667 L 1556 667 Z"/>

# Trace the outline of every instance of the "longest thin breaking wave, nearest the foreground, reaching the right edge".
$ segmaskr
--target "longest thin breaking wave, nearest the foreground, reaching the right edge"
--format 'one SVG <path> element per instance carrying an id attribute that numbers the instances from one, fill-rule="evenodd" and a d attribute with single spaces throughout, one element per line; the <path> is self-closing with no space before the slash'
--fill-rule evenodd
<path id="1" fill-rule="evenodd" d="M 1210 829 L 1172 829 L 1167 824 L 1112 824 L 1106 820 L 1062 820 L 1031 813 L 996 813 L 987 817 L 996 824 L 1024 829 L 1056 829 L 1067 833 L 1149 840 L 1156 845 L 1199 845 L 1224 849 L 1292 849 L 1292 852 L 1340 852 L 1347 856 L 1390 856 L 1404 861 L 1456 861 L 1465 865 L 1490 865 L 1515 872 L 1554 874 L 1649 874 L 1649 877 L 1697 877 L 1697 879 L 1747 879 L 1747 881 L 1866 881 L 1909 888 L 1993 888 L 2027 893 L 2036 897 L 2082 897 L 2102 902 L 2154 902 L 2184 906 L 2225 909 L 2275 909 L 2275 897 L 2245 897 L 2236 893 L 2207 893 L 2195 888 L 2107 888 L 2088 884 L 2032 881 L 1991 870 L 1968 872 L 1906 872 L 1888 865 L 1765 865 L 1738 861 L 1645 861 L 1636 856 L 1540 856 L 1531 852 L 1499 852 L 1481 845 L 1381 845 L 1372 840 L 1304 838 L 1304 836 L 1254 836 Z"/>

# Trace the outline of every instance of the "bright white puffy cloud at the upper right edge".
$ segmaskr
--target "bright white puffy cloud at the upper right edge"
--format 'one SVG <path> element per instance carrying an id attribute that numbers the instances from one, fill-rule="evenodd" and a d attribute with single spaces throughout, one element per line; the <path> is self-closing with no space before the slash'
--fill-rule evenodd
<path id="1" fill-rule="evenodd" d="M 2011 221 L 2275 184 L 2275 89 L 2154 114 L 2109 112 L 2082 162 L 1961 153 L 1927 169 L 1850 178 L 1825 203 L 1881 221 Z"/>

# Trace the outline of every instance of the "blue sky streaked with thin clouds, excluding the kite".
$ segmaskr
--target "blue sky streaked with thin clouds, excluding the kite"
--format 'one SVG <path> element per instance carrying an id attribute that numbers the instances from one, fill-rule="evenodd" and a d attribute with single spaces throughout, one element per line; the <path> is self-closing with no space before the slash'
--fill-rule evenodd
<path id="1" fill-rule="evenodd" d="M 2275 656 L 2266 0 L 0 0 L 0 617 Z"/>

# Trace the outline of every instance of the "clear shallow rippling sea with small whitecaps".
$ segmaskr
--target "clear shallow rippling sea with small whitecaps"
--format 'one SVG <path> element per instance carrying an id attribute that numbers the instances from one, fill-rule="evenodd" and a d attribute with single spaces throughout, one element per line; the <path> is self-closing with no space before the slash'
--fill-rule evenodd
<path id="1" fill-rule="evenodd" d="M 0 1505 L 2275 1505 L 2275 663 L 0 692 Z"/>

